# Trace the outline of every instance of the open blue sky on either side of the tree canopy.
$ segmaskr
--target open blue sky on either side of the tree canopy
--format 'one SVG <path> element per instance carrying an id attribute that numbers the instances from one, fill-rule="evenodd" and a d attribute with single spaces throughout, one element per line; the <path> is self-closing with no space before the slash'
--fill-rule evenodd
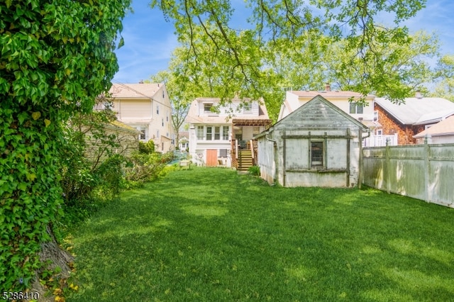
<path id="1" fill-rule="evenodd" d="M 120 70 L 114 83 L 137 83 L 167 69 L 172 50 L 177 47 L 172 23 L 165 21 L 161 11 L 150 9 L 149 2 L 133 0 L 134 13 L 129 13 L 123 20 L 125 45 L 116 50 Z M 416 30 L 436 33 L 441 41 L 441 52 L 454 54 L 453 12 L 452 0 L 428 0 L 426 8 L 406 21 L 406 26 L 411 33 Z M 387 20 L 383 22 L 387 23 Z"/>

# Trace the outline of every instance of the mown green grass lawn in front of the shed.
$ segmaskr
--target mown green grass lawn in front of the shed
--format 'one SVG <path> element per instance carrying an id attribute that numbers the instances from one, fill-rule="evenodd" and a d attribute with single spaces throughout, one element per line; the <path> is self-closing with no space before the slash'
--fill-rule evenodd
<path id="1" fill-rule="evenodd" d="M 454 301 L 454 210 L 170 172 L 73 232 L 67 301 Z"/>

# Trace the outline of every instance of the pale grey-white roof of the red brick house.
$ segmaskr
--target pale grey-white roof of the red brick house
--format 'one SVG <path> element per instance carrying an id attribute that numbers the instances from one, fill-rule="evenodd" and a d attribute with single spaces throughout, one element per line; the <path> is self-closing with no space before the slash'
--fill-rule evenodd
<path id="1" fill-rule="evenodd" d="M 454 103 L 442 98 L 406 98 L 404 104 L 394 104 L 385 98 L 376 98 L 378 104 L 404 125 L 437 123 L 454 114 Z"/>

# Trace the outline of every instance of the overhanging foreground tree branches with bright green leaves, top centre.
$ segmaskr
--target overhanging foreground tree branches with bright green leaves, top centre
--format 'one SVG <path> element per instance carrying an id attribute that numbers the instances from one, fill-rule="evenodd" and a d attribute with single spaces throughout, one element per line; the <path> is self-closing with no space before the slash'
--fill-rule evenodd
<path id="1" fill-rule="evenodd" d="M 267 104 L 277 103 L 276 99 L 271 99 L 278 96 L 276 89 L 270 90 L 270 82 L 279 86 L 285 83 L 283 77 L 287 76 L 277 74 L 277 67 L 300 66 L 310 71 L 313 62 L 320 62 L 314 61 L 317 52 L 341 40 L 341 51 L 351 55 L 343 69 L 357 70 L 356 90 L 364 95 L 385 91 L 384 83 L 392 80 L 395 86 L 386 87 L 389 96 L 402 99 L 409 94 L 411 89 L 404 79 L 387 77 L 384 73 L 387 62 L 383 54 L 387 45 L 404 47 L 411 43 L 408 30 L 399 23 L 414 16 L 424 1 L 321 0 L 314 3 L 311 6 L 303 0 L 245 1 L 251 11 L 249 26 L 245 29 L 233 28 L 234 8 L 229 1 L 154 0 L 151 6 L 160 8 L 175 22 L 179 41 L 187 47 L 187 65 L 199 66 L 192 70 L 208 78 L 211 74 L 222 74 L 209 82 L 210 89 L 222 99 L 240 91 L 241 96 L 255 99 L 267 96 Z M 380 26 L 375 21 L 380 13 L 394 16 L 396 26 Z M 303 55 L 298 57 L 301 53 Z M 275 64 L 287 60 L 288 55 L 292 60 L 280 66 Z M 383 72 L 371 74 L 370 70 Z M 189 79 L 197 82 L 199 74 L 194 73 Z M 293 75 L 301 77 L 303 73 Z M 301 77 L 304 78 L 308 79 Z"/>

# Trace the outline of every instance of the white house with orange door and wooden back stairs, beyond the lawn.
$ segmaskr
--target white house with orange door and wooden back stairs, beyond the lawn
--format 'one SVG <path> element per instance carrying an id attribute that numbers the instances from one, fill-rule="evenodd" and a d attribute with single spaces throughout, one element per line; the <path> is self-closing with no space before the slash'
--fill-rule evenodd
<path id="1" fill-rule="evenodd" d="M 186 118 L 189 154 L 196 164 L 247 169 L 257 158 L 254 135 L 271 124 L 265 104 L 240 99 L 219 103 L 217 98 L 192 102 Z"/>

